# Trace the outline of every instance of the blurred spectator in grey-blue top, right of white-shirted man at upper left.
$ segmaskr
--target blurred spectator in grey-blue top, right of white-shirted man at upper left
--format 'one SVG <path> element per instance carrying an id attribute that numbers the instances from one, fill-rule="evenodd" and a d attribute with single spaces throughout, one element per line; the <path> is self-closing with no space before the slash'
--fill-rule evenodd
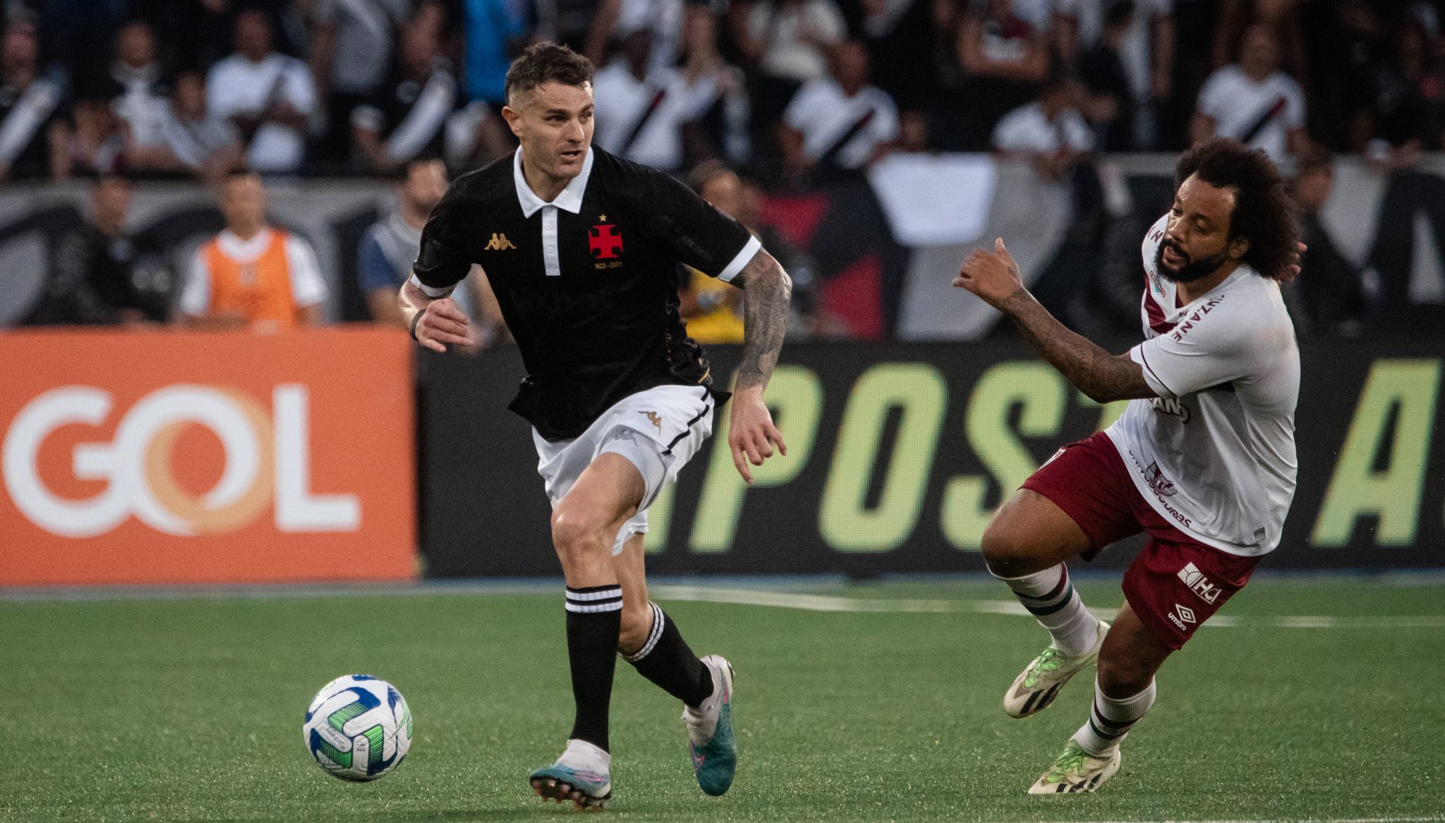
<path id="1" fill-rule="evenodd" d="M 350 154 L 351 110 L 379 91 L 410 6 L 412 0 L 314 0 L 308 56 L 327 121 L 319 159 L 342 162 Z"/>

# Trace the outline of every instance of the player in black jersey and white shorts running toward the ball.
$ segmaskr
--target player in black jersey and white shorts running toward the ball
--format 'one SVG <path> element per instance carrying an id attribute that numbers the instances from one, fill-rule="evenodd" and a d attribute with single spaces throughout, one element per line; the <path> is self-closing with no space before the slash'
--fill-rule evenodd
<path id="1" fill-rule="evenodd" d="M 681 699 L 698 784 L 733 784 L 733 670 L 702 660 L 647 599 L 646 510 L 712 433 L 728 393 L 678 315 L 685 263 L 747 292 L 743 365 L 728 446 L 743 478 L 786 446 L 763 404 L 792 283 L 736 219 L 668 175 L 591 147 L 592 65 L 529 48 L 507 71 L 503 108 L 522 147 L 458 178 L 422 231 L 400 303 L 426 348 L 471 345 L 447 295 L 480 264 L 527 377 L 512 410 L 533 426 L 566 576 L 566 647 L 577 718 L 558 761 L 529 775 L 542 797 L 611 797 L 607 712 L 616 656 Z"/>

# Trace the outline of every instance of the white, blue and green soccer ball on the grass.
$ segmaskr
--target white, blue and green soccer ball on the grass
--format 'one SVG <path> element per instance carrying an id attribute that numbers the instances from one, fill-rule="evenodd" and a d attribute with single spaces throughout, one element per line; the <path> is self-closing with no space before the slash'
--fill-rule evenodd
<path id="1" fill-rule="evenodd" d="M 386 680 L 347 674 L 321 687 L 301 735 L 327 774 L 376 780 L 400 765 L 412 748 L 412 710 Z"/>

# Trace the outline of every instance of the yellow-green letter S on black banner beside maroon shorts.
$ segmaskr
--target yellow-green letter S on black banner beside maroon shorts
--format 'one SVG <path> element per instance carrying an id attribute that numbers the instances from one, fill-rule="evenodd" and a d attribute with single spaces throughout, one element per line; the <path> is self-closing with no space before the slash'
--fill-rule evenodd
<path id="1" fill-rule="evenodd" d="M 1019 435 L 1051 437 L 1064 424 L 1068 387 L 1064 377 L 1045 362 L 1001 362 L 978 378 L 968 399 L 964 423 L 968 445 L 1000 488 L 1000 502 L 1007 500 L 1039 463 L 1009 427 L 1009 414 L 1022 406 Z M 1105 412 L 1107 412 L 1105 406 Z M 957 476 L 944 489 L 942 531 L 955 547 L 977 552 L 994 507 L 985 505 L 988 478 Z"/>

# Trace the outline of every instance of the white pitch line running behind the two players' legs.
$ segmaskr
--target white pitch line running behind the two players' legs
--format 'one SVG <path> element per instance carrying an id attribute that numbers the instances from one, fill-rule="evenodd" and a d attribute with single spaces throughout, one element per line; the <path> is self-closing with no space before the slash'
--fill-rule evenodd
<path id="1" fill-rule="evenodd" d="M 831 595 L 801 595 L 764 589 L 714 589 L 709 586 L 653 586 L 663 601 L 695 601 L 744 606 L 776 606 L 809 612 L 873 614 L 988 614 L 1032 617 L 1017 601 L 871 599 Z M 1110 619 L 1117 609 L 1090 609 Z M 1204 625 L 1214 628 L 1445 628 L 1445 615 L 1325 617 L 1325 615 L 1218 615 Z M 1429 819 L 1445 820 L 1445 817 Z M 1178 822 L 1183 823 L 1183 822 Z M 1218 822 L 1225 823 L 1225 822 Z M 1227 822 L 1234 823 L 1234 822 Z M 1263 822 L 1257 822 L 1263 823 Z M 1360 822 L 1366 823 L 1366 822 Z"/>

